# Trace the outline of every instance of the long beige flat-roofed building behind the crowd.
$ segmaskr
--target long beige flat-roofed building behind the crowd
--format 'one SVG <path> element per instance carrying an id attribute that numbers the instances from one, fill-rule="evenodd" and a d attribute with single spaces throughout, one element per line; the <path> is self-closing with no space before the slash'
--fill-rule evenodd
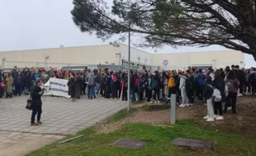
<path id="1" fill-rule="evenodd" d="M 40 50 L 0 52 L 1 68 L 17 67 L 64 67 L 119 65 L 128 66 L 128 46 L 120 44 L 64 47 Z M 167 60 L 165 67 L 163 61 Z M 198 68 L 225 68 L 239 65 L 245 67 L 244 55 L 239 51 L 217 51 L 196 53 L 150 54 L 131 47 L 131 66 L 139 69 L 184 70 L 187 66 Z"/>

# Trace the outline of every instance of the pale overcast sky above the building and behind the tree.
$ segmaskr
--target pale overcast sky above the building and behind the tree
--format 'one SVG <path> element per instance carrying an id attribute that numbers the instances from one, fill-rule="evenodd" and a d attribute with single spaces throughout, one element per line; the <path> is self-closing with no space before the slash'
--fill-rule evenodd
<path id="1" fill-rule="evenodd" d="M 107 0 L 110 4 L 112 0 Z M 109 44 L 95 35 L 81 33 L 71 19 L 72 0 L 0 0 L 0 51 L 57 48 L 60 45 L 84 46 Z M 114 41 L 115 38 L 112 38 Z M 135 40 L 132 38 L 132 40 Z M 127 44 L 127 41 L 124 42 Z M 155 49 L 141 49 L 154 53 Z M 158 53 L 182 53 L 227 50 L 221 46 L 207 48 L 165 46 Z M 227 58 L 229 59 L 229 58 Z M 256 66 L 245 54 L 246 67 Z"/>

